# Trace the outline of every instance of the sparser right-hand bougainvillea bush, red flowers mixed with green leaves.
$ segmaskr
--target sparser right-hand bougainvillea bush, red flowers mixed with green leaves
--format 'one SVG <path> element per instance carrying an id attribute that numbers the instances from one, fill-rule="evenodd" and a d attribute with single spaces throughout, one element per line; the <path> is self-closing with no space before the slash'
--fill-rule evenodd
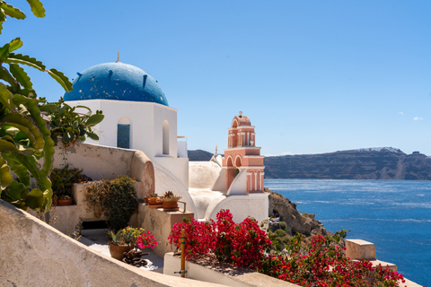
<path id="1" fill-rule="evenodd" d="M 399 280 L 404 282 L 401 274 L 382 265 L 374 268 L 369 261 L 350 261 L 345 248 L 335 244 L 345 237 L 344 230 L 332 238 L 316 235 L 304 248 L 303 236 L 296 235 L 286 247 L 289 256 L 265 258 L 259 272 L 301 286 L 398 286 Z"/>

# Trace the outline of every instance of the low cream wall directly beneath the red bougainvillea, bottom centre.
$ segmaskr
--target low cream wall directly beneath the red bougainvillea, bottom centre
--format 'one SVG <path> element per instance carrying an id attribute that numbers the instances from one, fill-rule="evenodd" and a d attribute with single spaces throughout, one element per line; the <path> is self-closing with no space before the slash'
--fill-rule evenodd
<path id="1" fill-rule="evenodd" d="M 180 271 L 180 257 L 173 253 L 164 255 L 163 274 L 180 277 L 175 272 Z M 278 280 L 265 274 L 259 274 L 248 269 L 236 268 L 233 265 L 209 263 L 199 260 L 198 264 L 186 260 L 186 278 L 217 283 L 233 287 L 271 286 L 271 287 L 294 287 L 294 283 Z"/>

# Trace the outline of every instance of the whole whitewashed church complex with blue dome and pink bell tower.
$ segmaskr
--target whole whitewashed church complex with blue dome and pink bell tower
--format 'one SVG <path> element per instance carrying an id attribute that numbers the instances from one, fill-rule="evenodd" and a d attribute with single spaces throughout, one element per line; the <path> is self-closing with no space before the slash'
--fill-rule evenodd
<path id="1" fill-rule="evenodd" d="M 172 190 L 182 196 L 197 219 L 215 219 L 220 209 L 230 209 L 236 222 L 268 217 L 263 156 L 248 117 L 233 118 L 224 159 L 189 162 L 187 144 L 177 140 L 177 109 L 169 107 L 151 75 L 117 61 L 78 73 L 73 84 L 64 96 L 69 105 L 105 115 L 94 127 L 100 141 L 87 143 L 145 152 L 154 165 L 157 194 Z"/>

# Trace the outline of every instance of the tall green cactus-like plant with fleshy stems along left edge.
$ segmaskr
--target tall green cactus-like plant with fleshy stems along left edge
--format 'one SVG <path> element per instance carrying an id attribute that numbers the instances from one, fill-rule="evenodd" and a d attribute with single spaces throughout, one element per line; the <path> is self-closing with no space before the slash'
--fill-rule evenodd
<path id="1" fill-rule="evenodd" d="M 45 16 L 39 0 L 28 0 L 28 3 L 35 16 Z M 26 17 L 19 9 L 0 1 L 0 32 L 7 16 Z M 63 73 L 47 69 L 35 58 L 15 54 L 21 47 L 22 40 L 16 38 L 0 48 L 0 196 L 22 209 L 30 207 L 44 212 L 52 196 L 48 174 L 54 153 L 53 141 L 40 115 L 40 100 L 22 65 L 47 72 L 65 91 L 72 90 L 72 83 Z M 37 187 L 31 188 L 31 178 Z"/>

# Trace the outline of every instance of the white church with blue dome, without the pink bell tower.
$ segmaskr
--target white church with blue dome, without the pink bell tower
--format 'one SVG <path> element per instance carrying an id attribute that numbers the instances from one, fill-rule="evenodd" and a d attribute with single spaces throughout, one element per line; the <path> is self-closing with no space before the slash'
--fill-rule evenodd
<path id="1" fill-rule="evenodd" d="M 87 139 L 87 143 L 143 151 L 154 163 L 156 178 L 165 178 L 156 191 L 187 192 L 189 159 L 185 142 L 180 142 L 178 149 L 177 109 L 169 107 L 150 74 L 117 61 L 77 73 L 73 86 L 74 90 L 64 95 L 70 106 L 83 105 L 105 115 L 94 127 L 99 142 Z"/>

